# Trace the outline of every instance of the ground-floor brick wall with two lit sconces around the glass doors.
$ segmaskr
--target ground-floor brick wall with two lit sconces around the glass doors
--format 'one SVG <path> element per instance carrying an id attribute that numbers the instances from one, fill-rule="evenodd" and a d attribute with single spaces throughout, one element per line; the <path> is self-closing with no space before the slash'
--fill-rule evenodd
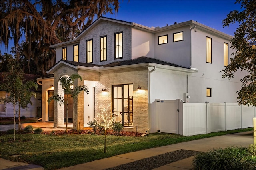
<path id="1" fill-rule="evenodd" d="M 95 85 L 95 117 L 101 113 L 99 106 L 112 102 L 112 85 L 133 84 L 133 128 L 126 131 L 146 132 L 148 129 L 148 71 L 147 67 L 106 71 L 100 73 L 100 82 Z M 137 90 L 138 85 L 142 87 Z M 106 89 L 107 92 L 102 92 Z"/>

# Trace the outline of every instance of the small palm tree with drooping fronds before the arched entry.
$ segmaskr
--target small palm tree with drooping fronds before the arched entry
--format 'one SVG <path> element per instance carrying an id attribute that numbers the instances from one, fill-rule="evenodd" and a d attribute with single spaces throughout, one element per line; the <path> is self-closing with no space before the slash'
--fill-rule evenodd
<path id="1" fill-rule="evenodd" d="M 67 108 L 66 133 L 68 132 L 68 99 L 69 98 L 74 99 L 82 91 L 85 91 L 87 94 L 89 94 L 89 90 L 85 85 L 78 85 L 74 89 L 71 87 L 75 79 L 80 79 L 82 81 L 82 77 L 78 74 L 72 74 L 70 77 L 62 76 L 59 78 L 58 82 L 60 83 L 60 86 L 62 87 L 64 93 L 67 94 L 66 102 L 64 100 L 64 96 L 58 95 L 58 94 L 54 94 L 48 99 L 48 103 L 54 100 L 60 105 L 66 105 L 66 108 Z"/>

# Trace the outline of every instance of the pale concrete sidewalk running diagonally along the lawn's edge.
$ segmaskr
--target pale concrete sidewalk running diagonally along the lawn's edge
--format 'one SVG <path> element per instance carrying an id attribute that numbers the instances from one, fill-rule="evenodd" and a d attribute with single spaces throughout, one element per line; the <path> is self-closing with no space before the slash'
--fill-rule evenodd
<path id="1" fill-rule="evenodd" d="M 151 149 L 141 150 L 137 152 L 121 154 L 121 155 L 113 156 L 110 158 L 95 160 L 95 161 L 87 162 L 84 164 L 62 168 L 61 170 L 103 170 L 103 169 L 119 166 L 122 164 L 134 162 L 136 160 L 140 160 L 143 158 L 165 154 L 167 152 L 173 152 L 175 150 L 180 150 L 180 149 L 207 152 L 209 149 L 213 149 L 213 148 L 226 148 L 229 146 L 248 146 L 249 144 L 253 144 L 252 135 L 253 135 L 253 131 L 249 131 L 249 132 L 242 132 L 242 133 L 236 133 L 236 134 L 228 134 L 224 136 L 205 138 L 200 140 L 193 140 L 190 142 L 183 142 L 179 144 L 172 144 L 172 145 L 162 146 L 158 148 L 151 148 Z M 155 170 L 191 170 L 192 160 L 193 160 L 193 157 L 186 158 L 184 160 L 180 160 L 165 166 L 158 167 Z M 4 159 L 1 159 L 0 163 L 1 163 L 1 170 L 6 170 L 10 168 L 10 166 L 14 166 L 14 164 L 16 165 L 23 164 L 20 162 L 11 162 Z M 8 163 L 10 164 L 10 166 L 8 165 Z M 28 165 L 29 164 L 27 164 L 26 166 Z M 42 168 L 42 167 L 39 167 L 39 168 Z M 31 167 L 28 169 L 34 169 L 34 168 Z M 9 170 L 11 170 L 11 168 Z M 34 169 L 34 170 L 39 170 L 39 169 Z"/>

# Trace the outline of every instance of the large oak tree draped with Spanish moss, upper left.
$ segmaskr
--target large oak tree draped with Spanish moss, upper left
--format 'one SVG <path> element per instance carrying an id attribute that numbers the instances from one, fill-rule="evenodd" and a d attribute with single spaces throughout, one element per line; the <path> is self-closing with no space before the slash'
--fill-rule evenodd
<path id="1" fill-rule="evenodd" d="M 1 0 L 0 40 L 7 48 L 13 39 L 18 50 L 24 34 L 24 55 L 45 74 L 55 63 L 50 45 L 74 38 L 95 15 L 112 14 L 118 8 L 118 0 Z"/>

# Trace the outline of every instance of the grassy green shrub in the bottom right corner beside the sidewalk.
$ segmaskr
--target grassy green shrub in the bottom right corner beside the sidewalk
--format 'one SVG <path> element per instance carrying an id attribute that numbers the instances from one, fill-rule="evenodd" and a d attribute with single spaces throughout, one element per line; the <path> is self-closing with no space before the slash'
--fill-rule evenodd
<path id="1" fill-rule="evenodd" d="M 196 155 L 192 166 L 197 170 L 253 170 L 256 162 L 252 157 L 246 147 L 218 148 Z"/>

